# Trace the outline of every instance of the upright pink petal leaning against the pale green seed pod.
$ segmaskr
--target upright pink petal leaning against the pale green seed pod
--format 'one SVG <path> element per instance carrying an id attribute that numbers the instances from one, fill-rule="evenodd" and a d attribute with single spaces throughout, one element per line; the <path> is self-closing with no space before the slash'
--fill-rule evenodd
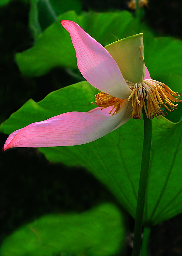
<path id="1" fill-rule="evenodd" d="M 131 90 L 109 52 L 75 22 L 62 20 L 61 24 L 70 33 L 77 66 L 84 78 L 113 97 L 127 99 Z"/>

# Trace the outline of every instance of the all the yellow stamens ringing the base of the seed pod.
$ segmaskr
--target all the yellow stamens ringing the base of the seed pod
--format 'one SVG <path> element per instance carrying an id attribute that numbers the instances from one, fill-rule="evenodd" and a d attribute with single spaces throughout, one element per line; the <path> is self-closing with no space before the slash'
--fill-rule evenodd
<path id="1" fill-rule="evenodd" d="M 127 80 L 125 81 L 132 90 L 127 101 L 131 100 L 131 116 L 135 119 L 141 119 L 143 108 L 149 119 L 159 115 L 166 116 L 167 113 L 164 114 L 162 106 L 167 111 L 171 112 L 178 106 L 178 104 L 173 104 L 172 102 L 182 102 L 182 100 L 178 99 L 181 94 L 179 95 L 178 92 L 173 92 L 167 85 L 156 80 L 145 79 L 141 83 L 136 84 Z M 121 105 L 123 103 L 126 104 L 127 101 L 114 98 L 105 92 L 99 92 L 95 95 L 95 104 L 101 109 L 113 106 L 109 112 L 109 114 L 113 112 L 112 116 L 116 114 Z"/>

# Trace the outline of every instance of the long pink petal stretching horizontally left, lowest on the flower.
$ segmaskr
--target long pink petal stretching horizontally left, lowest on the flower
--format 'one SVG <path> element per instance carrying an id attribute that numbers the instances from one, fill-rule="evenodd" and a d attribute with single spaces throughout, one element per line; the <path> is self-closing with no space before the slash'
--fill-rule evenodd
<path id="1" fill-rule="evenodd" d="M 4 150 L 15 147 L 56 147 L 80 145 L 97 140 L 120 124 L 125 105 L 114 116 L 68 112 L 29 124 L 8 137 Z"/>

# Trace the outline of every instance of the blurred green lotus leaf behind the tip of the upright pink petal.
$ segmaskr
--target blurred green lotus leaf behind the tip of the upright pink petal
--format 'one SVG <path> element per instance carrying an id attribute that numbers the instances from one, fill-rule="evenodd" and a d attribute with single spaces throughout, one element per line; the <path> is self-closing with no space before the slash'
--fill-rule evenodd
<path id="1" fill-rule="evenodd" d="M 132 14 L 126 11 L 89 12 L 80 16 L 74 11 L 64 13 L 40 34 L 32 48 L 16 55 L 18 67 L 23 75 L 41 76 L 54 67 L 77 68 L 74 47 L 60 20 L 75 21 L 103 45 L 116 41 L 118 37 L 121 39 L 131 36 L 136 27 Z M 118 24 L 121 24 L 120 27 Z"/>

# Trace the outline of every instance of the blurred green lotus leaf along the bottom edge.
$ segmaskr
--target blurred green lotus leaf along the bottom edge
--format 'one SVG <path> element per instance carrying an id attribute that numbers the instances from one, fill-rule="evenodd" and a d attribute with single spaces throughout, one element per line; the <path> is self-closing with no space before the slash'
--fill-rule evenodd
<path id="1" fill-rule="evenodd" d="M 42 216 L 7 237 L 0 254 L 110 256 L 120 250 L 124 239 L 123 215 L 115 205 L 102 204 L 80 214 Z"/>

